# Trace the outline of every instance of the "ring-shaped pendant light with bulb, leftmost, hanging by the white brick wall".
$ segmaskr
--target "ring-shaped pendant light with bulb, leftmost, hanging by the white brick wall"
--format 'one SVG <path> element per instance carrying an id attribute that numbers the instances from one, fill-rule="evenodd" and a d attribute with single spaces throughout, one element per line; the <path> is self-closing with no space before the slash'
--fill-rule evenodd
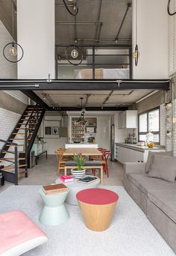
<path id="1" fill-rule="evenodd" d="M 3 49 L 3 55 L 4 58 L 7 61 L 10 61 L 12 63 L 16 63 L 21 61 L 23 55 L 24 55 L 24 51 L 22 49 L 22 46 L 19 45 L 19 43 L 16 43 L 14 41 L 14 8 L 13 8 L 13 0 L 11 0 L 11 7 L 12 7 L 12 43 L 7 43 L 4 46 Z"/>

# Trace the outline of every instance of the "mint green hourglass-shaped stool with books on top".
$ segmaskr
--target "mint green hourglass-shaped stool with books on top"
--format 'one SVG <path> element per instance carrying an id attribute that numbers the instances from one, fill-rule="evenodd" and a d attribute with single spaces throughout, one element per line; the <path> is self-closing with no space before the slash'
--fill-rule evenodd
<path id="1" fill-rule="evenodd" d="M 43 189 L 39 190 L 39 194 L 45 204 L 42 213 L 40 213 L 40 223 L 47 226 L 54 226 L 63 224 L 69 219 L 69 213 L 64 205 L 67 193 L 60 192 L 53 195 L 45 195 Z"/>

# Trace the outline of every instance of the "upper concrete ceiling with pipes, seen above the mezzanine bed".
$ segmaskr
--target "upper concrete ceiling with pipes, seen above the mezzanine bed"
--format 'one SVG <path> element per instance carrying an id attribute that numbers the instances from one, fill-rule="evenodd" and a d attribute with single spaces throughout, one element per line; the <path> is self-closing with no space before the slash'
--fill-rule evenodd
<path id="1" fill-rule="evenodd" d="M 68 4 L 73 1 L 67 1 Z M 104 43 L 115 43 L 123 16 L 131 0 L 79 0 L 78 15 L 70 15 L 62 0 L 55 1 L 55 32 L 56 44 L 78 43 L 95 44 L 95 39 L 107 40 Z M 73 10 L 73 7 L 70 7 Z M 63 24 L 70 22 L 70 24 Z M 75 25 L 74 23 L 78 23 Z M 83 24 L 84 22 L 101 22 L 101 24 Z M 71 24 L 72 23 L 72 24 Z M 101 31 L 99 31 L 101 27 Z M 121 43 L 131 44 L 131 7 L 117 40 Z M 80 39 L 80 40 L 79 40 Z M 83 40 L 81 40 L 83 39 Z M 87 40 L 92 39 L 92 40 Z M 111 42 L 109 42 L 111 40 Z"/>

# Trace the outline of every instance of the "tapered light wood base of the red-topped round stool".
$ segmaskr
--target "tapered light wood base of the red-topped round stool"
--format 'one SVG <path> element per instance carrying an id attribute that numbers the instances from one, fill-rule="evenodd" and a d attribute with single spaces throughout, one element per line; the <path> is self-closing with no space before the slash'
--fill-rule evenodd
<path id="1" fill-rule="evenodd" d="M 117 202 L 113 204 L 86 204 L 78 200 L 87 228 L 92 231 L 105 231 L 109 228 L 116 203 Z"/>

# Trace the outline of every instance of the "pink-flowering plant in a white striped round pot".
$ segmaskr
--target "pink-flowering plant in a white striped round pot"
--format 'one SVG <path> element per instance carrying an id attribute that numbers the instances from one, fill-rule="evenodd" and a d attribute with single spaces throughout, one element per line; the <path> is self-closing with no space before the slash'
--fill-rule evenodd
<path id="1" fill-rule="evenodd" d="M 85 175 L 86 170 L 84 169 L 84 165 L 87 158 L 83 156 L 81 152 L 78 152 L 74 154 L 73 159 L 76 162 L 77 168 L 72 168 L 72 176 L 75 177 L 75 179 L 80 179 Z"/>

